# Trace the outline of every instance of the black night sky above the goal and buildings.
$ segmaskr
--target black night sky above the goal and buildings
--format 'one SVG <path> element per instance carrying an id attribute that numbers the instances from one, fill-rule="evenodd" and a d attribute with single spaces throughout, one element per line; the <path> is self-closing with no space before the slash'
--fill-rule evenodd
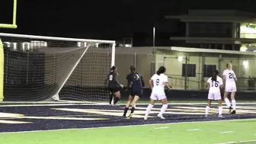
<path id="1" fill-rule="evenodd" d="M 11 23 L 12 0 L 2 0 L 0 22 Z M 168 14 L 186 14 L 188 9 L 234 9 L 256 12 L 256 1 L 202 0 L 18 0 L 16 30 L 1 32 L 56 37 L 121 40 L 137 33 L 158 33 L 168 37 L 184 33 L 184 25 L 165 20 Z"/>

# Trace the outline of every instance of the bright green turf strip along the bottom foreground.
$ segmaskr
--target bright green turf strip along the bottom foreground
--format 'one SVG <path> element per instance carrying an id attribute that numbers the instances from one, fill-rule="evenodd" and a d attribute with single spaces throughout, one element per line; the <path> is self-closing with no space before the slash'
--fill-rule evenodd
<path id="1" fill-rule="evenodd" d="M 256 143 L 256 120 L 120 126 L 0 134 L 1 144 Z M 240 141 L 240 142 L 238 142 Z"/>

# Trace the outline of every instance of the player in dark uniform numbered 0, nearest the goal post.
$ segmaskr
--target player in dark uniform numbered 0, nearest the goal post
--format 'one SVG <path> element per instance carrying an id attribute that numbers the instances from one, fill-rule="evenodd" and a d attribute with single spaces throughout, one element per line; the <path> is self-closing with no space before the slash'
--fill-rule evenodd
<path id="1" fill-rule="evenodd" d="M 123 88 L 123 85 L 121 85 L 117 81 L 117 76 L 118 76 L 117 67 L 112 66 L 109 74 L 107 75 L 107 88 L 110 91 L 110 97 L 109 97 L 110 104 L 113 98 L 114 98 L 114 104 L 117 104 L 117 102 L 121 98 L 120 89 Z"/>

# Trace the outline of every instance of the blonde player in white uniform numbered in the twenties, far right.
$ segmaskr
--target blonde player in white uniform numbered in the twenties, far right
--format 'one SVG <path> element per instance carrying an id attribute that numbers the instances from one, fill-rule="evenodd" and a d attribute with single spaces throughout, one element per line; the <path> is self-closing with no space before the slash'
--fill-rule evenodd
<path id="1" fill-rule="evenodd" d="M 224 92 L 224 101 L 226 105 L 229 107 L 229 113 L 233 109 L 232 113 L 235 114 L 235 91 L 236 91 L 236 85 L 235 81 L 237 81 L 237 78 L 235 76 L 235 72 L 232 70 L 232 65 L 230 63 L 226 64 L 226 68 L 223 72 L 223 79 L 226 81 L 225 85 L 225 92 Z M 228 94 L 231 93 L 231 101 L 232 101 L 232 107 L 228 98 Z"/>

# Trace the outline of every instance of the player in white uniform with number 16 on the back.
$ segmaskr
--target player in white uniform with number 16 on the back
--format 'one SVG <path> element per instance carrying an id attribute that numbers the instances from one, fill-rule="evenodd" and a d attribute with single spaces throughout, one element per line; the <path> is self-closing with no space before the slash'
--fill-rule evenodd
<path id="1" fill-rule="evenodd" d="M 206 106 L 205 117 L 207 117 L 208 115 L 212 101 L 217 100 L 219 102 L 219 118 L 224 118 L 222 117 L 222 98 L 221 98 L 220 89 L 219 89 L 219 88 L 223 88 L 223 82 L 222 82 L 222 78 L 220 78 L 218 75 L 219 75 L 219 71 L 215 70 L 213 72 L 213 76 L 209 78 L 206 83 L 206 89 L 209 89 L 209 94 L 208 94 L 208 104 Z"/>

